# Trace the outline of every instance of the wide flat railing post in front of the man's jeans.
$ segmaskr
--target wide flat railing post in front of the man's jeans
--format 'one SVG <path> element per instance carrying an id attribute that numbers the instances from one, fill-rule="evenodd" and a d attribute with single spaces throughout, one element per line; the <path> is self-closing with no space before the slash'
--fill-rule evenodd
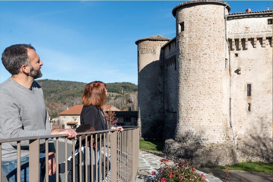
<path id="1" fill-rule="evenodd" d="M 37 182 L 40 178 L 40 138 L 29 140 L 29 182 Z"/>

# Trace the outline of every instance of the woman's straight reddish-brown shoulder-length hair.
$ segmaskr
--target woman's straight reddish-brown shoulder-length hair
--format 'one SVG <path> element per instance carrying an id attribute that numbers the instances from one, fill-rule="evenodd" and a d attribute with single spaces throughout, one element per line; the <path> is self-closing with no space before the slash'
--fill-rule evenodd
<path id="1" fill-rule="evenodd" d="M 81 96 L 81 102 L 84 106 L 102 107 L 107 101 L 106 84 L 101 81 L 88 83 L 84 88 Z"/>

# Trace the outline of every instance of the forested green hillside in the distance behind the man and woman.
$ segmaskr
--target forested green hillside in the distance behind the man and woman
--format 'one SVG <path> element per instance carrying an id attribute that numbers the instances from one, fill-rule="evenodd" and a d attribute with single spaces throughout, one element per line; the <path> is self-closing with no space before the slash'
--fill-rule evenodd
<path id="1" fill-rule="evenodd" d="M 81 104 L 80 97 L 83 93 L 84 87 L 87 83 L 62 81 L 62 80 L 50 80 L 40 79 L 36 80 L 43 88 L 44 99 L 47 110 L 51 117 L 56 117 L 57 113 L 62 112 L 66 107 L 71 107 L 76 104 Z M 138 86 L 133 83 L 106 83 L 108 88 L 108 102 L 115 104 L 114 100 L 118 97 L 124 97 L 128 99 L 128 94 L 135 93 L 138 90 Z M 129 101 L 128 101 L 129 103 Z M 127 102 L 124 102 L 126 105 Z M 122 105 L 123 106 L 123 105 Z M 122 107 L 119 105 L 119 107 Z"/>

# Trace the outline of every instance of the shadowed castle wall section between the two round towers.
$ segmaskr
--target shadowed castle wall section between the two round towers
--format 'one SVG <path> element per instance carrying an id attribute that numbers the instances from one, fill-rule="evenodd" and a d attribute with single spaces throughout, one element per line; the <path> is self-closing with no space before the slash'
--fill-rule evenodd
<path id="1" fill-rule="evenodd" d="M 164 56 L 164 135 L 163 140 L 173 138 L 177 119 L 177 70 L 176 39 L 163 48 Z"/>

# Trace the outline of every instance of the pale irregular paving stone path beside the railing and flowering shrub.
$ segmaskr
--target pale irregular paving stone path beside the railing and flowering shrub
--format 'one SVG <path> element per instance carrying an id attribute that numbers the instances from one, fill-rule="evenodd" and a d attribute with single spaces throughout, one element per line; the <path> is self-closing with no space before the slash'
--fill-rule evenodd
<path id="1" fill-rule="evenodd" d="M 156 172 L 158 168 L 162 167 L 160 159 L 162 157 L 139 150 L 139 169 L 136 182 L 150 182 L 153 179 L 152 172 Z M 173 161 L 169 160 L 166 164 L 173 164 Z M 222 182 L 217 177 L 203 173 L 202 171 L 196 170 L 196 172 L 204 174 L 207 182 Z"/>

